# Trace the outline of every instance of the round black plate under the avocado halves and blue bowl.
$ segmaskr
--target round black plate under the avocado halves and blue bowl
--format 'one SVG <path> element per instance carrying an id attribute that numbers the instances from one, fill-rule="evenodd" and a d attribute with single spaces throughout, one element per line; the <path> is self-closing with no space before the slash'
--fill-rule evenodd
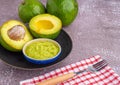
<path id="1" fill-rule="evenodd" d="M 62 47 L 62 53 L 60 55 L 60 58 L 53 63 L 46 65 L 32 64 L 25 60 L 22 52 L 10 52 L 4 49 L 2 46 L 0 46 L 0 59 L 11 66 L 21 69 L 37 69 L 51 66 L 66 58 L 72 49 L 72 40 L 64 30 L 61 31 L 60 35 L 55 40 L 60 43 Z"/>

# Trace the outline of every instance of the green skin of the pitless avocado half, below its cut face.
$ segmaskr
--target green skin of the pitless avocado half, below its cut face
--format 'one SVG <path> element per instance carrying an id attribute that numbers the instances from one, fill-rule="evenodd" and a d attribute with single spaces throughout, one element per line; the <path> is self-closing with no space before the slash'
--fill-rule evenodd
<path id="1" fill-rule="evenodd" d="M 36 32 L 33 31 L 33 30 L 30 30 L 30 31 L 31 31 L 32 35 L 33 35 L 35 38 L 50 38 L 50 39 L 55 39 L 55 38 L 60 34 L 60 32 L 61 32 L 61 30 L 60 30 L 60 31 L 58 31 L 58 32 L 56 32 L 56 33 L 54 33 L 54 34 L 45 35 L 45 34 L 38 34 L 38 33 L 36 33 Z"/>

